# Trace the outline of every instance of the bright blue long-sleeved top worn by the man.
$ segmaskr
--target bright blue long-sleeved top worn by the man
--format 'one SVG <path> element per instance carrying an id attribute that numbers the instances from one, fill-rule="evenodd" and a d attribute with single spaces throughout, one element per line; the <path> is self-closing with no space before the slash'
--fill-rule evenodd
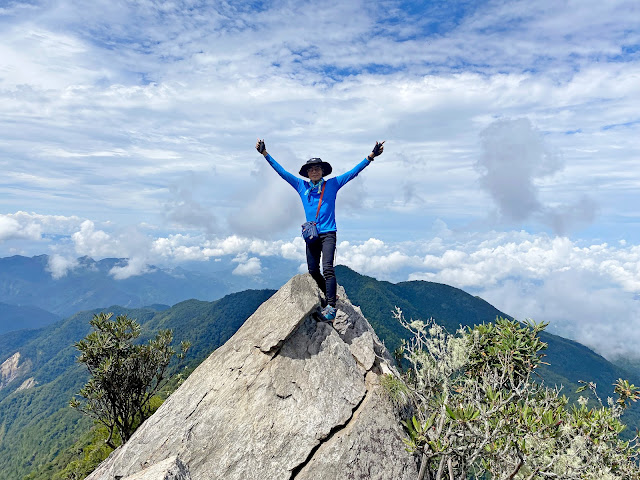
<path id="1" fill-rule="evenodd" d="M 336 227 L 336 196 L 338 190 L 344 187 L 349 180 L 353 180 L 358 174 L 369 165 L 369 160 L 366 158 L 356 165 L 353 169 L 347 173 L 343 173 L 337 177 L 325 179 L 326 186 L 324 187 L 324 196 L 322 197 L 322 205 L 320 205 L 320 213 L 316 219 L 316 211 L 318 210 L 318 202 L 320 201 L 320 193 L 317 188 L 309 189 L 312 183 L 303 180 L 291 173 L 287 172 L 282 166 L 276 162 L 269 154 L 265 157 L 269 165 L 278 172 L 282 178 L 284 178 L 289 185 L 296 189 L 300 199 L 302 200 L 302 206 L 304 207 L 304 214 L 307 217 L 307 222 L 316 222 L 318 233 L 335 232 Z M 309 192 L 309 193 L 307 193 Z"/>

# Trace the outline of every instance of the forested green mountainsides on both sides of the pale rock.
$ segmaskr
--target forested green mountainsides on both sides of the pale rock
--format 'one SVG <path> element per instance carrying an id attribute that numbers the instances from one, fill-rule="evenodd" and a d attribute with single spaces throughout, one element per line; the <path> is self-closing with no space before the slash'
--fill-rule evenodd
<path id="1" fill-rule="evenodd" d="M 337 267 L 337 275 L 350 300 L 360 305 L 390 351 L 411 338 L 410 332 L 389 315 L 396 305 L 413 318 L 424 314 L 433 316 L 452 332 L 460 326 L 489 325 L 496 317 L 510 320 L 484 300 L 447 285 L 379 282 L 342 266 Z M 177 342 L 191 340 L 192 348 L 185 360 L 190 368 L 195 368 L 272 294 L 273 291 L 251 290 L 215 302 L 189 300 L 169 309 L 109 307 L 107 310 L 114 315 L 136 318 L 141 325 L 140 341 L 153 339 L 163 329 L 171 329 Z M 77 363 L 73 343 L 90 332 L 89 321 L 96 313 L 100 311 L 82 312 L 40 330 L 0 335 L 0 362 L 19 351 L 21 361 L 31 364 L 22 377 L 0 390 L 0 480 L 22 479 L 27 474 L 30 480 L 64 478 L 55 475 L 62 475 L 62 470 L 72 462 L 77 462 L 77 472 L 82 472 L 85 467 L 90 470 L 91 462 L 100 458 L 98 446 L 104 443 L 108 433 L 105 429 L 102 433 L 87 433 L 92 428 L 91 420 L 66 403 L 88 380 L 86 371 Z M 534 372 L 538 372 L 548 386 L 563 385 L 563 393 L 572 401 L 578 399 L 579 394 L 574 392 L 582 379 L 601 386 L 611 385 L 618 378 L 639 383 L 637 377 L 628 375 L 583 345 L 545 331 L 538 337 L 548 344 L 544 362 L 549 365 L 540 364 Z M 173 376 L 160 396 L 177 388 L 188 373 L 189 370 L 179 369 L 176 363 L 170 364 L 167 377 Z M 38 384 L 16 391 L 29 377 Z M 405 384 L 393 381 L 389 380 L 389 390 L 394 392 L 399 404 L 406 405 Z M 591 398 L 588 406 L 598 407 L 597 399 Z M 625 411 L 628 425 L 640 423 L 636 412 L 635 405 Z M 632 430 L 626 429 L 622 435 L 632 435 Z"/>

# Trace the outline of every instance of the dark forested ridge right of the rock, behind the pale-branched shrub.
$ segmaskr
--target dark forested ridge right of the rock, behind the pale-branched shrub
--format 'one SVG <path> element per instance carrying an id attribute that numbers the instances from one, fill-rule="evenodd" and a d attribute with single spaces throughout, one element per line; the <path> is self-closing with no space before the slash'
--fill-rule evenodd
<path id="1" fill-rule="evenodd" d="M 497 317 L 512 319 L 486 301 L 441 283 L 381 282 L 343 265 L 336 267 L 336 276 L 351 302 L 360 306 L 390 352 L 397 350 L 403 340 L 411 338 L 410 332 L 390 317 L 396 306 L 408 318 L 433 317 L 449 332 L 457 331 L 460 326 L 489 324 Z M 577 400 L 575 392 L 583 379 L 598 385 L 612 385 L 618 378 L 628 378 L 636 385 L 640 384 L 639 375 L 613 365 L 584 345 L 546 331 L 540 332 L 540 341 L 549 347 L 545 351 L 545 363 L 536 369 L 534 377 L 543 379 L 549 386 L 562 385 L 570 400 Z M 630 407 L 625 418 L 629 425 L 640 426 L 639 406 L 634 404 Z"/>

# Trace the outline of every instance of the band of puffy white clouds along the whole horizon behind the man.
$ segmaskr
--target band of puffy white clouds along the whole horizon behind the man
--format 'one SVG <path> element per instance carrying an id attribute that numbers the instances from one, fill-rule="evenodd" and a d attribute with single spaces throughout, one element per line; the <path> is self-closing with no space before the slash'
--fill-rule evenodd
<path id="1" fill-rule="evenodd" d="M 37 216 L 20 218 L 26 221 Z M 64 230 L 67 227 L 60 225 L 66 222 L 41 221 L 38 225 Z M 552 332 L 582 342 L 608 358 L 636 355 L 633 345 L 640 341 L 635 333 L 640 331 L 635 328 L 640 321 L 640 246 L 630 241 L 585 243 L 524 231 L 462 233 L 451 230 L 442 220 L 435 221 L 433 227 L 440 236 L 430 240 L 342 241 L 337 263 L 384 280 L 430 280 L 463 288 L 516 318 L 548 321 Z M 238 276 L 263 275 L 266 257 L 276 262 L 278 258 L 299 261 L 300 272 L 306 271 L 305 244 L 297 236 L 289 241 L 184 233 L 151 237 L 137 228 L 114 230 L 113 225 L 98 227 L 90 220 L 76 228 L 70 235 L 73 250 L 61 249 L 50 256 L 48 270 L 54 278 L 62 278 L 77 266 L 72 253 L 126 258 L 124 266 L 110 272 L 116 279 L 143 274 L 156 262 L 229 256 L 237 264 L 233 274 Z M 47 230 L 42 233 L 46 236 Z"/>

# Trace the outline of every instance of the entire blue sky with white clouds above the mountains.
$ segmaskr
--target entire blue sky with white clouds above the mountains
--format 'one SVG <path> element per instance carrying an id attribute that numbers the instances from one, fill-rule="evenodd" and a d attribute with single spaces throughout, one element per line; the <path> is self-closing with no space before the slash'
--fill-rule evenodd
<path id="1" fill-rule="evenodd" d="M 254 150 L 334 172 L 338 261 L 640 341 L 637 1 L 0 1 L 0 255 L 299 262 Z M 428 312 L 426 312 L 428 314 Z"/>

